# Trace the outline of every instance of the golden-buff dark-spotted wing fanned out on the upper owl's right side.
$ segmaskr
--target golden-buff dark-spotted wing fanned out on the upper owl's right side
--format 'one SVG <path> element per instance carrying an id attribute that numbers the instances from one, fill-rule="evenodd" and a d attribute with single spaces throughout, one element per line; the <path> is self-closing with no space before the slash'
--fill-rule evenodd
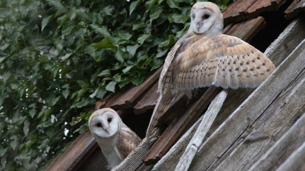
<path id="1" fill-rule="evenodd" d="M 214 85 L 255 88 L 275 66 L 266 55 L 228 35 L 202 38 L 190 45 L 173 65 L 173 92 Z"/>

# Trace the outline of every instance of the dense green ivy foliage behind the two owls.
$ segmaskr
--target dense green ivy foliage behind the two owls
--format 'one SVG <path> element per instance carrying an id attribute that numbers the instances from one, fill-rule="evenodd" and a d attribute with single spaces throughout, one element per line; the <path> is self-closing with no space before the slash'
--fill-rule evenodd
<path id="1" fill-rule="evenodd" d="M 113 2 L 0 2 L 2 169 L 46 166 L 98 99 L 142 83 L 187 31 L 194 0 Z"/>

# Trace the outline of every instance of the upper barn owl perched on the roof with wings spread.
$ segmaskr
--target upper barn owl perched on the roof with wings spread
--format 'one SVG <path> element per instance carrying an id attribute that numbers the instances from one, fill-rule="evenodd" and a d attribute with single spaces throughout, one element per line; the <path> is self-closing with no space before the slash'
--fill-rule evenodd
<path id="1" fill-rule="evenodd" d="M 192 97 L 196 88 L 255 88 L 275 66 L 262 52 L 243 40 L 222 34 L 223 17 L 212 2 L 197 2 L 191 9 L 187 33 L 168 53 L 161 72 L 160 97 L 146 136 L 177 94 Z"/>

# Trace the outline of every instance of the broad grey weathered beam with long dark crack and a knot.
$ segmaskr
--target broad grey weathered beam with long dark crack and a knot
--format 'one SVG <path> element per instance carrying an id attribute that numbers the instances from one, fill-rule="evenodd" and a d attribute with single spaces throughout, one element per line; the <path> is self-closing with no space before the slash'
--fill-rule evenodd
<path id="1" fill-rule="evenodd" d="M 304 55 L 305 40 L 204 142 L 191 170 L 247 169 L 270 148 L 271 138 L 277 140 L 289 129 L 287 124 L 305 103 L 305 97 L 289 92 L 289 88 L 304 90 L 297 84 L 304 76 Z M 245 138 L 255 132 L 262 132 L 268 139 L 247 144 Z"/>

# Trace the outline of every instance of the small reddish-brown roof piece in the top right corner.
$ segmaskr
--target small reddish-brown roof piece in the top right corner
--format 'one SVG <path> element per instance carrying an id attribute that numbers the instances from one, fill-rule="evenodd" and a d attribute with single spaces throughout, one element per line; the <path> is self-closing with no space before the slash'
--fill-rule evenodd
<path id="1" fill-rule="evenodd" d="M 300 12 L 305 11 L 305 0 L 294 0 L 285 10 L 285 18 L 291 19 L 297 17 Z M 300 15 L 301 16 L 301 15 Z"/>

